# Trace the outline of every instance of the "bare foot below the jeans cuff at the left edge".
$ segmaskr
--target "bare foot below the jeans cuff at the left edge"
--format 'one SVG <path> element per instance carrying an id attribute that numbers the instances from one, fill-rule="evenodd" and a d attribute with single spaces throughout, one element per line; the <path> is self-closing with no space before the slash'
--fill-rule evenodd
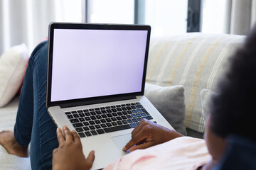
<path id="1" fill-rule="evenodd" d="M 14 132 L 3 130 L 0 132 L 0 145 L 2 145 L 9 154 L 15 154 L 18 157 L 28 157 L 28 147 L 18 144 L 14 138 Z"/>

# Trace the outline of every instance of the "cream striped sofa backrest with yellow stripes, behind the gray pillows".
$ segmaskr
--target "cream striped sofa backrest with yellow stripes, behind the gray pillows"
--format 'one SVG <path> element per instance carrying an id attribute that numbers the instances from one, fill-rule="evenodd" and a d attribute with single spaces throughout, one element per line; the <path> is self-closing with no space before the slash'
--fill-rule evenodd
<path id="1" fill-rule="evenodd" d="M 186 128 L 204 132 L 201 90 L 216 91 L 216 82 L 228 66 L 228 57 L 244 38 L 203 33 L 151 38 L 146 83 L 183 85 Z"/>

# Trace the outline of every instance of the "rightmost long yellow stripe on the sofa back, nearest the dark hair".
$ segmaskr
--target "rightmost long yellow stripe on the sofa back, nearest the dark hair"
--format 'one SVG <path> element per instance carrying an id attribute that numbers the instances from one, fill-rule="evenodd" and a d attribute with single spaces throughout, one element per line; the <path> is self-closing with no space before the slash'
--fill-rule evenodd
<path id="1" fill-rule="evenodd" d="M 214 42 L 212 45 L 210 45 L 210 48 L 207 50 L 206 54 L 203 56 L 203 59 L 201 60 L 201 63 L 198 67 L 198 70 L 196 72 L 196 77 L 195 80 L 193 82 L 193 86 L 191 89 L 191 96 L 189 98 L 189 102 L 188 102 L 188 110 L 186 112 L 186 127 L 189 128 L 190 126 L 190 121 L 191 121 L 191 115 L 192 115 L 192 111 L 193 111 L 193 103 L 195 101 L 196 98 L 196 91 L 198 89 L 198 83 L 201 77 L 201 74 L 203 72 L 203 68 L 208 60 L 208 57 L 210 56 L 210 54 L 213 52 L 213 50 L 215 49 L 215 47 L 218 45 L 218 43 L 220 42 L 220 40 L 222 40 L 223 38 L 219 38 L 216 42 Z"/>

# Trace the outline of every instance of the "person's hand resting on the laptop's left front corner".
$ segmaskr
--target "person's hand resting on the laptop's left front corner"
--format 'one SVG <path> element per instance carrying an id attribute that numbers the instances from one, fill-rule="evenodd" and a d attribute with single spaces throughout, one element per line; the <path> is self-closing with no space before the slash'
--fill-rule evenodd
<path id="1" fill-rule="evenodd" d="M 65 134 L 65 138 L 63 136 Z M 90 169 L 95 159 L 95 152 L 91 151 L 87 157 L 82 153 L 80 137 L 67 126 L 57 129 L 59 147 L 53 150 L 53 170 L 65 169 Z"/>

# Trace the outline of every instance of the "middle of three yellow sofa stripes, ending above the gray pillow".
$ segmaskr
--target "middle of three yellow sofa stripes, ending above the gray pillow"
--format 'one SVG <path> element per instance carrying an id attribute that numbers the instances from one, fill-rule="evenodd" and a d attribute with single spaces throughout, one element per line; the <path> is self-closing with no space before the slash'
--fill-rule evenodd
<path id="1" fill-rule="evenodd" d="M 169 77 L 168 86 L 172 85 L 174 77 L 175 77 L 175 74 L 176 74 L 176 71 L 178 69 L 178 65 L 180 64 L 182 57 L 185 55 L 185 52 L 188 50 L 188 47 L 193 43 L 193 40 L 196 40 L 196 37 L 195 38 L 191 38 L 191 40 L 188 40 L 188 43 L 185 45 L 185 47 L 181 51 L 181 54 L 178 55 L 178 58 L 176 59 L 174 67 L 171 70 L 171 75 Z"/>

